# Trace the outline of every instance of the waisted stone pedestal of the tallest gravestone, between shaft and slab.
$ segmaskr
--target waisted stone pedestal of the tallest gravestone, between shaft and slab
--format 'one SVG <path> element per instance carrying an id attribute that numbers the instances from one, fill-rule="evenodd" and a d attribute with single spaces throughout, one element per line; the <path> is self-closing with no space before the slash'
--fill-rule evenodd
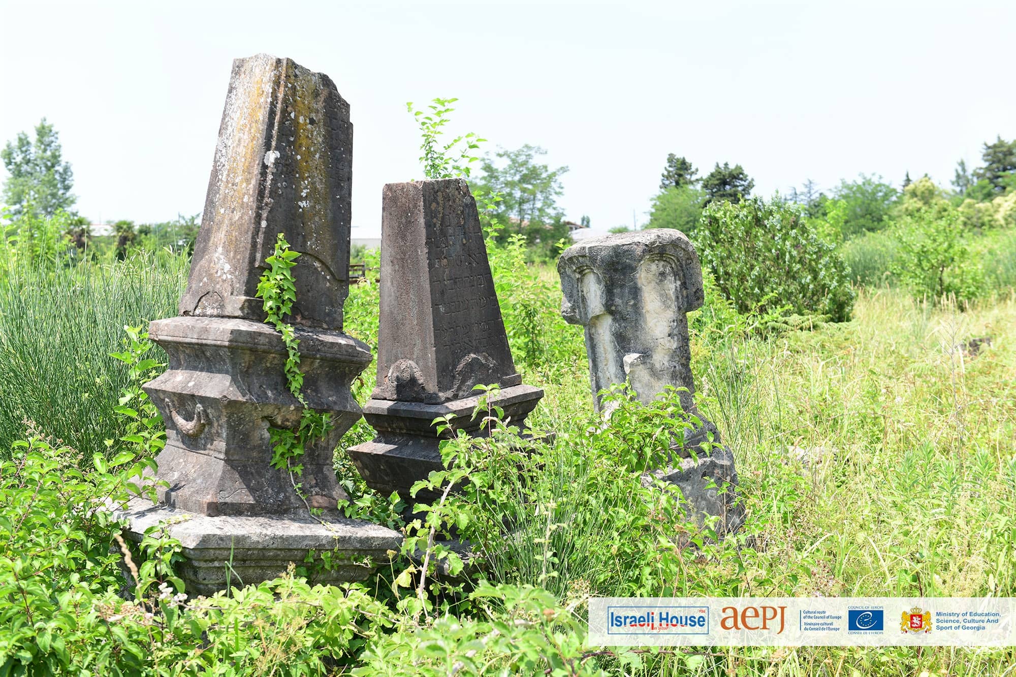
<path id="1" fill-rule="evenodd" d="M 304 396 L 330 415 L 328 434 L 300 459 L 311 507 L 337 514 L 347 498 L 332 450 L 360 418 L 351 383 L 370 350 L 337 331 L 299 328 Z M 144 390 L 166 421 L 158 489 L 166 505 L 209 516 L 269 515 L 304 510 L 289 473 L 271 468 L 269 426 L 299 424 L 302 407 L 285 384 L 281 337 L 263 322 L 227 317 L 174 317 L 149 325 L 170 356 L 169 369 Z"/>

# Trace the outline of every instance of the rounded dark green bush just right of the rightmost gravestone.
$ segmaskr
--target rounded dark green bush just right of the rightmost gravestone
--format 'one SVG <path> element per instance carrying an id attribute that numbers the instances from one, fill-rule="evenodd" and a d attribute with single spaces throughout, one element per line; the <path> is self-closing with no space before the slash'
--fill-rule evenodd
<path id="1" fill-rule="evenodd" d="M 713 202 L 694 242 L 703 267 L 739 312 L 782 308 L 837 322 L 850 318 L 854 292 L 846 264 L 795 204 L 758 197 Z"/>

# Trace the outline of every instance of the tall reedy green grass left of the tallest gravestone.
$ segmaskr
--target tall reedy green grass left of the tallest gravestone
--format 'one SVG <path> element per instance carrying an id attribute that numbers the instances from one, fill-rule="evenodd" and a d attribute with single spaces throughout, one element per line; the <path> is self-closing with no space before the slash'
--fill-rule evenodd
<path id="1" fill-rule="evenodd" d="M 90 457 L 118 435 L 124 325 L 176 315 L 189 259 L 138 252 L 78 265 L 18 260 L 0 278 L 0 449 L 25 426 Z M 30 422 L 30 424 L 29 424 Z"/>

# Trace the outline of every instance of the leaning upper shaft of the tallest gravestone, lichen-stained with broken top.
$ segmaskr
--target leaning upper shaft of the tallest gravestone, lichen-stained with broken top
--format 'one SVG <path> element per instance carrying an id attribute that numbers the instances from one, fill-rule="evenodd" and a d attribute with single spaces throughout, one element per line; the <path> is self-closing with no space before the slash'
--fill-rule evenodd
<path id="1" fill-rule="evenodd" d="M 352 167 L 331 78 L 266 54 L 234 61 L 180 314 L 264 319 L 258 280 L 282 233 L 301 253 L 292 322 L 341 331 Z"/>

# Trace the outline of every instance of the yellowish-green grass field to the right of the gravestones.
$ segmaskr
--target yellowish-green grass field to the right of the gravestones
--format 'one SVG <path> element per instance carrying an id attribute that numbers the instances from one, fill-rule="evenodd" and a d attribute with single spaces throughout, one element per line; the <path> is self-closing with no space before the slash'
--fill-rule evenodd
<path id="1" fill-rule="evenodd" d="M 882 291 L 863 294 L 846 324 L 700 336 L 703 411 L 734 449 L 755 552 L 694 575 L 733 577 L 727 592 L 743 595 L 1016 595 L 1014 328 L 1012 297 L 958 312 Z M 980 337 L 991 346 L 974 354 Z M 589 406 L 583 377 L 547 384 L 547 424 Z M 824 460 L 806 470 L 795 450 Z M 682 659 L 651 672 L 1001 675 L 1016 662 L 1012 650 L 720 653 L 696 671 Z"/>

